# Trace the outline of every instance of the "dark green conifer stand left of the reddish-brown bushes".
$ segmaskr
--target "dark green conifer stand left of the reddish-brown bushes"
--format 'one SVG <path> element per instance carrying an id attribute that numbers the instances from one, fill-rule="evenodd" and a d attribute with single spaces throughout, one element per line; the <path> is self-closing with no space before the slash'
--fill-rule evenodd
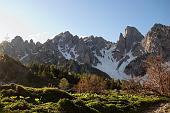
<path id="1" fill-rule="evenodd" d="M 80 74 L 70 72 L 53 64 L 30 64 L 27 65 L 27 69 L 30 71 L 30 75 L 27 78 L 29 81 L 26 85 L 31 87 L 61 86 L 62 89 L 67 89 L 77 84 L 80 79 Z"/>

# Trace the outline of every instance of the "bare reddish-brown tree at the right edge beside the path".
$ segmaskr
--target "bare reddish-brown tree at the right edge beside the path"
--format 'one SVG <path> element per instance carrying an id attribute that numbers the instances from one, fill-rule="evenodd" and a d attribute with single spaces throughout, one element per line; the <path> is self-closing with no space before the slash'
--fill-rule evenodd
<path id="1" fill-rule="evenodd" d="M 147 58 L 147 80 L 144 83 L 145 89 L 170 95 L 170 69 L 161 56 L 149 56 Z"/>

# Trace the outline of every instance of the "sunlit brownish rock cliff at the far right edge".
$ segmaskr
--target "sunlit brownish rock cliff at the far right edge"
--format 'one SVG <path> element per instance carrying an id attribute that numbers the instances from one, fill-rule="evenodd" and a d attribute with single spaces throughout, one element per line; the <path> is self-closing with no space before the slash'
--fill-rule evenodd
<path id="1" fill-rule="evenodd" d="M 170 60 L 170 26 L 155 24 L 143 40 L 143 47 L 148 53 L 161 55 Z"/>

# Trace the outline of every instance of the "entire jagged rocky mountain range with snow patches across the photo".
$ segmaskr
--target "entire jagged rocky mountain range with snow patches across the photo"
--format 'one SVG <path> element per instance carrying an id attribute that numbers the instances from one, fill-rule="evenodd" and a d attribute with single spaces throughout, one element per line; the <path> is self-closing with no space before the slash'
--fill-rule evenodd
<path id="1" fill-rule="evenodd" d="M 169 29 L 169 26 L 155 24 L 144 37 L 135 27 L 127 26 L 117 43 L 107 41 L 103 37 L 80 38 L 77 35 L 73 36 L 69 31 L 60 33 L 43 44 L 39 42 L 35 44 L 33 40 L 24 41 L 20 36 L 16 36 L 11 42 L 2 42 L 0 52 L 23 64 L 35 62 L 60 65 L 66 60 L 74 60 L 78 64 L 87 64 L 89 67 L 99 69 L 110 77 L 127 79 L 130 77 L 127 74 L 144 75 L 144 69 L 138 73 L 136 71 L 140 70 L 140 60 L 148 52 L 156 50 L 155 42 L 160 41 L 155 38 L 158 35 L 165 46 L 164 54 L 169 61 Z M 137 59 L 138 63 L 135 62 Z M 138 68 L 134 67 L 135 65 Z"/>

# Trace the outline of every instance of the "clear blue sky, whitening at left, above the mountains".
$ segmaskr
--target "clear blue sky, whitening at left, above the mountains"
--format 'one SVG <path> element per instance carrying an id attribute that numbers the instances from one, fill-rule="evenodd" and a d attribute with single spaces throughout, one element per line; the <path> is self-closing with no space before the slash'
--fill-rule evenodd
<path id="1" fill-rule="evenodd" d="M 116 42 L 127 25 L 145 35 L 154 23 L 170 25 L 170 0 L 0 0 L 0 41 L 44 42 L 68 30 Z"/>

